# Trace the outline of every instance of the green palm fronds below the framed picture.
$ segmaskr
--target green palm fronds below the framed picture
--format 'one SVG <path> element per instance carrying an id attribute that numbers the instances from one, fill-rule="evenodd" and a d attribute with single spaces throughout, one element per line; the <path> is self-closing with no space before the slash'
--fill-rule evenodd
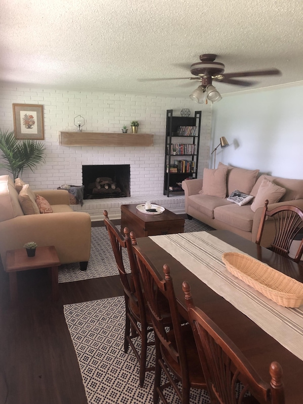
<path id="1" fill-rule="evenodd" d="M 33 139 L 18 140 L 14 136 L 14 131 L 2 132 L 0 129 L 0 150 L 4 160 L 4 163 L 0 163 L 0 167 L 11 172 L 14 179 L 24 168 L 33 171 L 37 165 L 45 163 L 44 144 Z"/>

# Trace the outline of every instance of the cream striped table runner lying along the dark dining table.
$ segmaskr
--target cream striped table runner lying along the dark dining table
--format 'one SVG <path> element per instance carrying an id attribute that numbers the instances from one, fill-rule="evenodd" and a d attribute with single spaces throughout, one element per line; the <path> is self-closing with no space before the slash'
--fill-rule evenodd
<path id="1" fill-rule="evenodd" d="M 303 360 L 303 306 L 295 309 L 279 306 L 232 275 L 222 261 L 222 254 L 245 254 L 243 251 L 206 232 L 150 236 L 150 239 Z"/>

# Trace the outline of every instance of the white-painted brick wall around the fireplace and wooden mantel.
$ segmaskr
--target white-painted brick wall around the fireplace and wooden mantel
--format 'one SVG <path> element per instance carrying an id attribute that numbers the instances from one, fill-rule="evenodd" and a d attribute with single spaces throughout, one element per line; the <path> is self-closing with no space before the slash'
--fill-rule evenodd
<path id="1" fill-rule="evenodd" d="M 0 128 L 13 130 L 13 103 L 44 105 L 47 163 L 34 173 L 26 170 L 22 179 L 33 189 L 82 185 L 83 164 L 130 164 L 131 195 L 163 194 L 166 110 L 179 115 L 182 108 L 202 110 L 199 173 L 208 166 L 211 106 L 193 103 L 189 97 L 126 94 L 102 91 L 62 90 L 4 86 L 0 89 Z M 73 119 L 85 118 L 84 131 L 120 132 L 136 119 L 138 133 L 154 133 L 154 146 L 67 147 L 59 145 L 59 131 L 76 130 Z M 0 169 L 0 174 L 6 174 Z"/>

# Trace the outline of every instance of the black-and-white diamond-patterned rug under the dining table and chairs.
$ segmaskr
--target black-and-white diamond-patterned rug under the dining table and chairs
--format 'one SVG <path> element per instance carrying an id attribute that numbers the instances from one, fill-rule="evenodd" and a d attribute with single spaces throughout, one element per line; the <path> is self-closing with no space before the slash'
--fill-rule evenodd
<path id="1" fill-rule="evenodd" d="M 64 315 L 78 357 L 88 404 L 145 404 L 153 402 L 154 372 L 139 387 L 138 361 L 129 348 L 124 353 L 124 297 L 64 306 Z M 154 365 L 154 347 L 147 361 Z M 169 402 L 179 402 L 167 389 Z M 205 390 L 191 390 L 191 403 L 208 404 Z"/>

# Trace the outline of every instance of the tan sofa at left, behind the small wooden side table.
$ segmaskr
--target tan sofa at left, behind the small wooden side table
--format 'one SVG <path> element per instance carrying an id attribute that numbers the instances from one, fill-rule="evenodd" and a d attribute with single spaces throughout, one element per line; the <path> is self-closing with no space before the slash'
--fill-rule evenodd
<path id="1" fill-rule="evenodd" d="M 7 250 L 35 241 L 38 246 L 54 245 L 61 264 L 80 262 L 80 268 L 86 270 L 91 247 L 90 215 L 71 209 L 67 191 L 32 193 L 44 197 L 53 212 L 41 214 L 38 209 L 36 214 L 24 214 L 13 179 L 0 176 L 0 254 L 4 268 Z"/>

